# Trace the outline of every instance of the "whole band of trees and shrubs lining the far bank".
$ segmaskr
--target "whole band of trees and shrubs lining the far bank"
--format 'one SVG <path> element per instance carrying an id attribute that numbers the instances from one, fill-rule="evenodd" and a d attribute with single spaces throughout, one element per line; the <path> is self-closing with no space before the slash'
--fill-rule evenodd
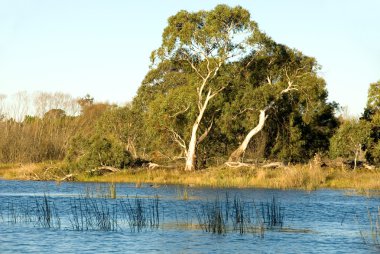
<path id="1" fill-rule="evenodd" d="M 180 11 L 130 104 L 86 96 L 65 100 L 78 113 L 40 106 L 22 120 L 3 117 L 0 161 L 64 160 L 70 170 L 170 161 L 193 170 L 226 161 L 303 163 L 319 154 L 379 163 L 380 83 L 371 84 L 361 120 L 343 119 L 318 70 L 241 7 Z"/>

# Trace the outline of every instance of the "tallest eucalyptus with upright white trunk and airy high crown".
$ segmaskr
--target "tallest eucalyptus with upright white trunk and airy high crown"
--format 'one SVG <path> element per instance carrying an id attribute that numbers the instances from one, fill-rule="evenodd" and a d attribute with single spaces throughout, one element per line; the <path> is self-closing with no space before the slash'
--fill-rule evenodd
<path id="1" fill-rule="evenodd" d="M 210 101 L 217 97 L 228 84 L 216 82 L 223 66 L 241 60 L 256 47 L 264 37 L 257 24 L 250 20 L 250 14 L 241 7 L 218 5 L 210 11 L 180 11 L 168 20 L 162 36 L 162 45 L 152 53 L 152 61 L 181 62 L 193 77 L 188 81 L 196 95 L 197 113 L 188 141 L 177 134 L 186 155 L 185 170 L 195 169 L 197 144 L 204 139 L 211 128 L 205 128 L 198 135 Z M 179 109 L 178 112 L 185 110 Z M 174 131 L 174 130 L 172 130 Z"/>

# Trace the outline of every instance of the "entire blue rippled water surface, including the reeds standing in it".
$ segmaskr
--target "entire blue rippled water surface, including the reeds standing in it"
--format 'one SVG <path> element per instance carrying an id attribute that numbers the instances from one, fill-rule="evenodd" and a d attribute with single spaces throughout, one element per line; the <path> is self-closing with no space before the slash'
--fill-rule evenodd
<path id="1" fill-rule="evenodd" d="M 380 204 L 378 196 L 332 190 L 115 187 L 112 199 L 108 184 L 0 181 L 0 252 L 378 251 L 360 235 L 366 230 L 367 209 Z"/>

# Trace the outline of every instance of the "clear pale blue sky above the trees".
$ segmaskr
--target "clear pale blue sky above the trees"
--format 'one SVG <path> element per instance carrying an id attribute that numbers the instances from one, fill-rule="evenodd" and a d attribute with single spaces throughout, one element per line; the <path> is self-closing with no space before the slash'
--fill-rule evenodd
<path id="1" fill-rule="evenodd" d="M 314 56 L 329 100 L 360 114 L 380 79 L 378 0 L 0 0 L 0 94 L 136 94 L 167 18 L 181 9 L 241 5 L 277 42 Z"/>

